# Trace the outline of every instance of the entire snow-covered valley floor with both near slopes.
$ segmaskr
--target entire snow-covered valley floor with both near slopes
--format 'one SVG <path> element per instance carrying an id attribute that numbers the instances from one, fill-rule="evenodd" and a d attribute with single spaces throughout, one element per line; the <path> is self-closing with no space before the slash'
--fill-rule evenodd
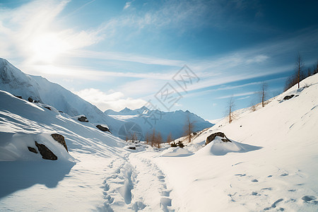
<path id="1" fill-rule="evenodd" d="M 0 211 L 318 211 L 318 75 L 305 84 L 160 150 L 1 91 Z M 204 146 L 218 131 L 232 142 Z M 28 151 L 33 141 L 59 159 Z"/>

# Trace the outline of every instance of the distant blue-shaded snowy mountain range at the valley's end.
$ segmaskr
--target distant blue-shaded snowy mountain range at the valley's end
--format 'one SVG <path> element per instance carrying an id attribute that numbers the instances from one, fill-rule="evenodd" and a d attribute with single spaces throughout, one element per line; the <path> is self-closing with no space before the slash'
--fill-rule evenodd
<path id="1" fill-rule="evenodd" d="M 114 119 L 124 122 L 134 123 L 141 129 L 143 135 L 151 131 L 159 131 L 165 140 L 171 133 L 172 138 L 177 139 L 184 135 L 184 124 L 189 117 L 190 122 L 194 123 L 194 131 L 201 131 L 213 126 L 210 122 L 202 119 L 196 114 L 187 111 L 177 110 L 174 112 L 163 112 L 160 110 L 149 110 L 143 106 L 136 110 L 124 108 L 119 112 L 106 110 L 105 114 Z M 119 134 L 119 136 L 121 136 Z M 124 137 L 122 137 L 124 139 Z"/>

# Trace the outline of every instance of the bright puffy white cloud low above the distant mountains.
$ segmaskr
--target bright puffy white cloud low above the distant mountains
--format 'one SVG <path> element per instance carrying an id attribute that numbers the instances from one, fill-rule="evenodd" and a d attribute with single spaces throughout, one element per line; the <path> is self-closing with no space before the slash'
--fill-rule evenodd
<path id="1" fill-rule="evenodd" d="M 92 103 L 102 111 L 108 109 L 119 111 L 124 107 L 129 107 L 134 110 L 146 105 L 145 100 L 126 98 L 124 93 L 121 92 L 107 94 L 95 88 L 86 88 L 79 91 L 73 90 L 73 93 L 76 93 L 76 95 Z"/>

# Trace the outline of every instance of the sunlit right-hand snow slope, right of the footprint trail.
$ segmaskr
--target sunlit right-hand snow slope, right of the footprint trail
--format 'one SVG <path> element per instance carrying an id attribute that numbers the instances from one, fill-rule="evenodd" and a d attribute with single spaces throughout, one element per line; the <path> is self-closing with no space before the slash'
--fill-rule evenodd
<path id="1" fill-rule="evenodd" d="M 163 170 L 179 211 L 318 211 L 318 74 L 305 85 L 310 87 L 294 86 L 255 112 L 238 110 L 231 124 L 225 118 L 202 131 L 185 147 L 194 155 L 136 156 Z M 232 142 L 216 137 L 204 146 L 217 131 Z"/>

